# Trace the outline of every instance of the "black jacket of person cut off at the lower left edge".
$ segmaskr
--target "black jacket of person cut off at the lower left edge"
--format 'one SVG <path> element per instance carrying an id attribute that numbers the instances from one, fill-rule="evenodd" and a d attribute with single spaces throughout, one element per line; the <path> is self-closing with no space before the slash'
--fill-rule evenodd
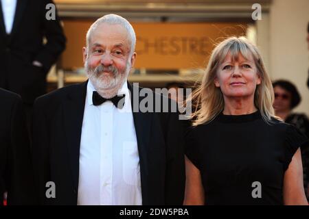
<path id="1" fill-rule="evenodd" d="M 0 88 L 0 205 L 34 203 L 30 145 L 20 96 Z"/>

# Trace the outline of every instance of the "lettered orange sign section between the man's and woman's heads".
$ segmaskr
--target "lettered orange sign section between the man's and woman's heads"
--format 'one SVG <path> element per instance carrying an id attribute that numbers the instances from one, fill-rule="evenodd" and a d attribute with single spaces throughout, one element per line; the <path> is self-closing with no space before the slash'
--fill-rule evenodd
<path id="1" fill-rule="evenodd" d="M 236 23 L 135 23 L 137 68 L 179 69 L 205 66 L 214 43 L 244 35 Z"/>

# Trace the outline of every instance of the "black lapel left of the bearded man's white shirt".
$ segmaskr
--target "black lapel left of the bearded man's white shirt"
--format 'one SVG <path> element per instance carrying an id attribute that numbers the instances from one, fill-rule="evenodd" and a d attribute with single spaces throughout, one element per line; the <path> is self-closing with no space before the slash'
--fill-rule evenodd
<path id="1" fill-rule="evenodd" d="M 74 190 L 78 190 L 80 164 L 80 138 L 82 135 L 82 120 L 84 117 L 84 102 L 87 94 L 87 82 L 76 86 L 68 94 L 63 111 L 65 121 L 65 137 L 69 149 L 69 164 L 73 177 Z"/>

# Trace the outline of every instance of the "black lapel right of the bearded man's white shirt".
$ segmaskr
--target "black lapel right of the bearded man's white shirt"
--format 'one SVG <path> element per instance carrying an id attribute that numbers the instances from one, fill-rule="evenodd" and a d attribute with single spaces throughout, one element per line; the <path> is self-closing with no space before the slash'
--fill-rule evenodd
<path id="1" fill-rule="evenodd" d="M 144 97 L 139 96 L 140 88 L 137 86 L 131 86 L 128 83 L 128 89 L 130 90 L 131 95 L 131 105 L 132 105 L 132 112 L 133 112 L 133 120 L 135 125 L 135 133 L 137 137 L 137 147 L 139 150 L 139 166 L 141 170 L 141 195 L 143 199 L 143 205 L 147 205 L 149 197 L 148 197 L 148 146 L 150 140 L 150 127 L 152 121 L 152 114 L 146 112 L 140 112 L 137 110 L 135 112 L 135 108 L 133 105 L 139 105 Z M 138 107 L 139 108 L 139 107 Z"/>

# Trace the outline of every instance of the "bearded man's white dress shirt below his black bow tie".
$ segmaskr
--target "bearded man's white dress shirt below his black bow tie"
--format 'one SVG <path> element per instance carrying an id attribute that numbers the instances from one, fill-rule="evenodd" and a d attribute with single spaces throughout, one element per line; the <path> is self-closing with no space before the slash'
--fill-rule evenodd
<path id="1" fill-rule="evenodd" d="M 95 106 L 91 81 L 82 121 L 78 205 L 141 205 L 139 152 L 130 94 L 119 110 L 106 101 Z"/>

